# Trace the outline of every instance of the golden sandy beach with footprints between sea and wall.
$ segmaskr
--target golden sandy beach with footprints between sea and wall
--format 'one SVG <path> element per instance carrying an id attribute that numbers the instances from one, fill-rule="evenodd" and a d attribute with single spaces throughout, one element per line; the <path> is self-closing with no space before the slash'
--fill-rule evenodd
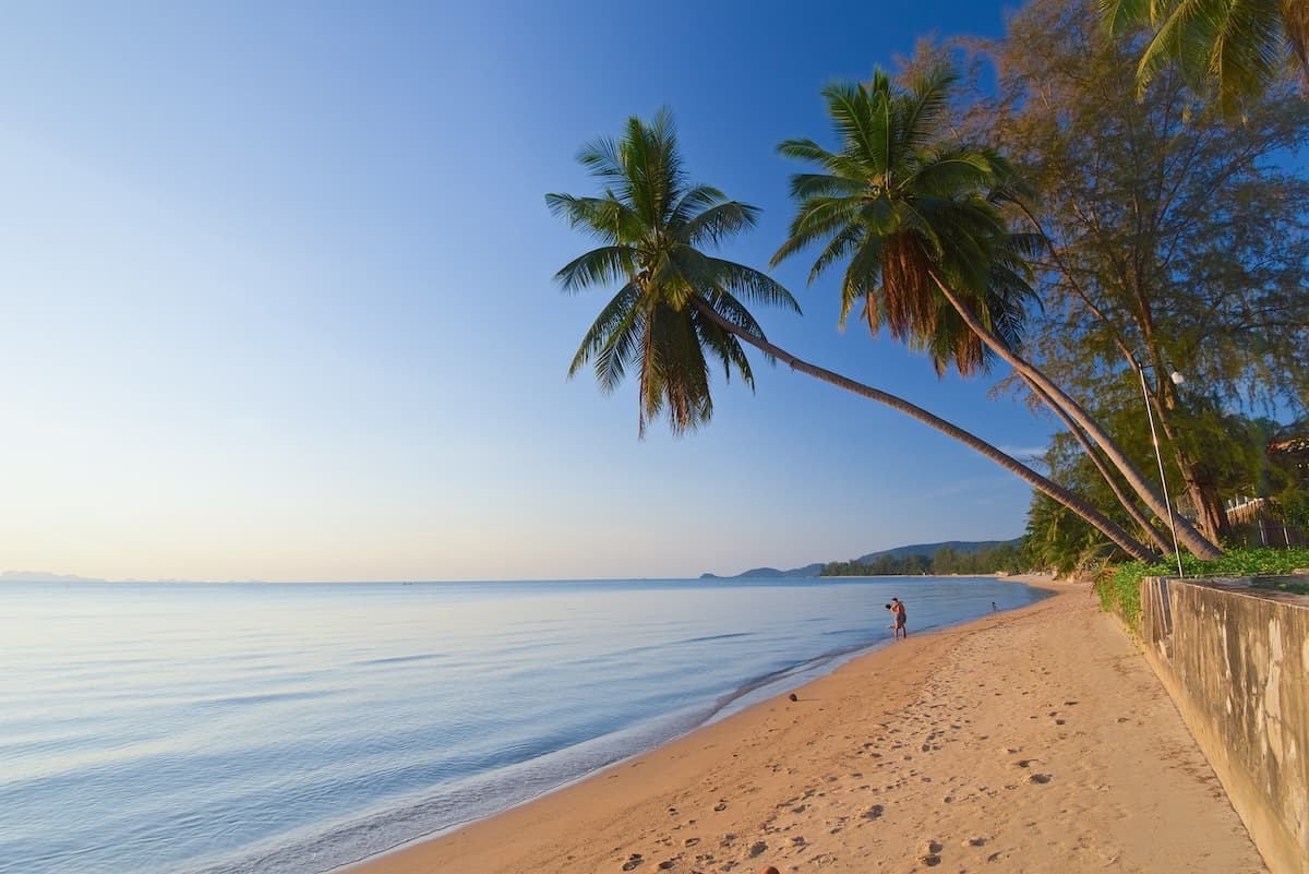
<path id="1" fill-rule="evenodd" d="M 348 870 L 1264 871 L 1115 620 L 1084 585 L 1043 585 Z"/>

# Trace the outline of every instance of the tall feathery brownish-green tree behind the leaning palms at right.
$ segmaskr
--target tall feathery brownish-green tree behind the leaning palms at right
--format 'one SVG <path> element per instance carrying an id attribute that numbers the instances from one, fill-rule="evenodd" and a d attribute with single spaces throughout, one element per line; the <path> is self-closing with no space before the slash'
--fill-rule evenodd
<path id="1" fill-rule="evenodd" d="M 1237 122 L 1166 69 L 1124 101 L 1134 48 L 1092 0 L 1031 4 L 1008 29 L 979 44 L 999 86 L 963 130 L 1004 143 L 1039 192 L 1028 353 L 1101 420 L 1123 404 L 1144 419 L 1143 368 L 1183 495 L 1225 536 L 1223 411 L 1309 403 L 1309 184 L 1285 160 L 1309 141 L 1309 105 L 1278 82 Z"/>

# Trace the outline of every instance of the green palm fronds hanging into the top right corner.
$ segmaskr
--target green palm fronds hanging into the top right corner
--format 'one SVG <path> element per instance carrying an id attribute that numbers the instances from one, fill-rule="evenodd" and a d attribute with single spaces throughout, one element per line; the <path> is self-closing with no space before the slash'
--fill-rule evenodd
<path id="1" fill-rule="evenodd" d="M 1305 0 L 1097 0 L 1110 31 L 1152 31 L 1136 67 L 1138 88 L 1169 61 L 1217 86 L 1224 111 L 1262 92 L 1293 55 L 1309 77 Z"/>

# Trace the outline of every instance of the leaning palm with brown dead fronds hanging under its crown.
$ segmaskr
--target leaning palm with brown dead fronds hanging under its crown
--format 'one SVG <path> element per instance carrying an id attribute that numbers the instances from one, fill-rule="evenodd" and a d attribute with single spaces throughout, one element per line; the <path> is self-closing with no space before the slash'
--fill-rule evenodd
<path id="1" fill-rule="evenodd" d="M 869 85 L 826 88 L 842 148 L 830 152 L 813 140 L 779 147 L 821 171 L 792 177 L 798 209 L 772 264 L 821 243 L 809 281 L 846 264 L 843 322 L 861 301 L 874 334 L 885 326 L 893 338 L 927 348 L 939 373 L 953 365 L 967 376 L 984 369 L 990 356 L 1003 358 L 1088 449 L 1089 441 L 1098 444 L 1147 506 L 1168 518 L 1164 500 L 1098 423 L 1014 352 L 1030 294 L 1021 255 L 1031 241 L 1009 233 L 995 196 L 1012 196 L 1008 164 L 988 149 L 941 145 L 956 81 L 948 64 L 933 64 L 912 75 L 907 90 L 881 71 Z M 1123 505 L 1158 536 L 1132 501 Z M 1185 518 L 1174 523 L 1194 555 L 1221 555 Z"/>

